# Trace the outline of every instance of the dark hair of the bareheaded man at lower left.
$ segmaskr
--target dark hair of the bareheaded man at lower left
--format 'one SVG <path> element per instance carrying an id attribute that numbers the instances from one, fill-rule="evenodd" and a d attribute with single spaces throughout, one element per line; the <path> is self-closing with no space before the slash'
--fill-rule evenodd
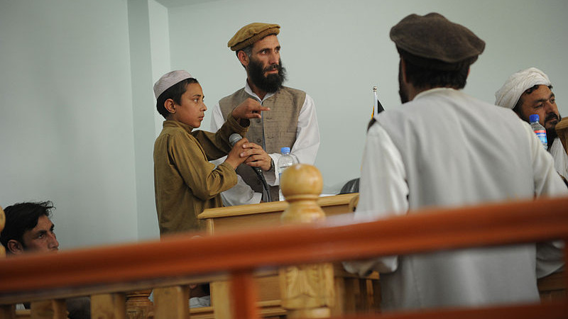
<path id="1" fill-rule="evenodd" d="M 6 225 L 0 233 L 0 242 L 6 248 L 6 252 L 10 252 L 9 240 L 17 240 L 23 244 L 23 233 L 35 228 L 41 216 L 50 217 L 52 208 L 54 207 L 51 201 L 16 203 L 4 208 Z"/>

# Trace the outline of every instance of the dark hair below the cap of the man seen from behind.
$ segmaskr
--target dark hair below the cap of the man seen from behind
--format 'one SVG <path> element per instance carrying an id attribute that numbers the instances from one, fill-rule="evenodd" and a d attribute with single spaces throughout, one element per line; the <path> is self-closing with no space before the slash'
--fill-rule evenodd
<path id="1" fill-rule="evenodd" d="M 464 86 L 466 86 L 469 66 L 477 60 L 477 57 L 474 57 L 463 62 L 447 64 L 438 62 L 437 60 L 416 57 L 401 49 L 399 49 L 398 52 L 405 62 L 407 81 L 413 84 L 417 89 L 431 89 L 434 87 L 463 89 Z M 414 61 L 424 63 L 418 65 Z M 429 62 L 432 62 L 432 67 L 428 67 L 428 65 L 430 65 Z M 444 69 L 435 67 L 436 65 L 443 65 Z"/>

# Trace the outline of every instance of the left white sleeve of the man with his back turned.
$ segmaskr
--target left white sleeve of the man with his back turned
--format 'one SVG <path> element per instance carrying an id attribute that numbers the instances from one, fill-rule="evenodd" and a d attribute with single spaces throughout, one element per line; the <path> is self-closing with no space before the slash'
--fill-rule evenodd
<path id="1" fill-rule="evenodd" d="M 408 184 L 403 158 L 393 140 L 378 123 L 367 133 L 359 182 L 359 203 L 355 220 L 375 220 L 408 211 Z M 348 272 L 367 276 L 373 270 L 394 272 L 398 257 L 388 256 L 371 260 L 344 262 Z"/>

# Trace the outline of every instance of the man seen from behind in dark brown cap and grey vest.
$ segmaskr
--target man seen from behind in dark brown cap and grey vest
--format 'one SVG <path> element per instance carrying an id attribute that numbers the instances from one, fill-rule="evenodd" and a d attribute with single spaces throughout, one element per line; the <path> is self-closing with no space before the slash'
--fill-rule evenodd
<path id="1" fill-rule="evenodd" d="M 567 195 L 528 123 L 460 90 L 483 40 L 438 13 L 403 18 L 391 39 L 403 105 L 378 114 L 368 130 L 357 219 Z M 562 267 L 561 247 L 475 248 L 344 266 L 381 273 L 383 310 L 538 302 L 537 277 Z"/>

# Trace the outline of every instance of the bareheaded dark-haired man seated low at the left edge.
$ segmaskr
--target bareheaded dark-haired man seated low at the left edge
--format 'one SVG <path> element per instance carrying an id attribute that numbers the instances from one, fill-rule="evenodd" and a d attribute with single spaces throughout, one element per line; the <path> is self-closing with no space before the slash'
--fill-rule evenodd
<path id="1" fill-rule="evenodd" d="M 30 252 L 57 252 L 59 242 L 50 220 L 53 203 L 16 203 L 4 208 L 6 225 L 0 233 L 0 242 L 6 254 L 16 256 Z M 91 318 L 91 303 L 88 297 L 67 299 L 70 319 Z M 29 304 L 24 305 L 29 308 Z"/>

